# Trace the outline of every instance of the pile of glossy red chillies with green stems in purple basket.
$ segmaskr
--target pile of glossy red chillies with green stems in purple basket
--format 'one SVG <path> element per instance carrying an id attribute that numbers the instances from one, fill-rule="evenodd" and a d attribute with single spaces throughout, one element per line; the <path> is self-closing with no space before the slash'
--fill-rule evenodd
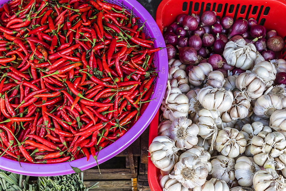
<path id="1" fill-rule="evenodd" d="M 132 11 L 100 0 L 14 0 L 0 12 L 1 156 L 96 159 L 140 118 L 162 48 Z"/>

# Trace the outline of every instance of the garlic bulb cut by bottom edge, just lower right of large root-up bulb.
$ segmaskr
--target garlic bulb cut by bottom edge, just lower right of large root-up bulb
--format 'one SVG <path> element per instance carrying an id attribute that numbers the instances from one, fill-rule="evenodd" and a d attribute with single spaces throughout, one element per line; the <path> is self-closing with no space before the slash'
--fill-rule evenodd
<path id="1" fill-rule="evenodd" d="M 192 191 L 229 191 L 229 187 L 224 180 L 211 178 L 206 181 L 202 186 L 196 186 Z"/>

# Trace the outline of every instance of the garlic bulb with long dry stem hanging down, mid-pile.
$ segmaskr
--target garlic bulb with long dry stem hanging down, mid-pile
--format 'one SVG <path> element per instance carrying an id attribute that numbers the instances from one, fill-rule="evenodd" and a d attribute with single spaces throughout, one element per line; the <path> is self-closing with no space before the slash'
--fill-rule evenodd
<path id="1" fill-rule="evenodd" d="M 212 150 L 215 145 L 217 133 L 221 127 L 220 114 L 216 110 L 202 109 L 198 112 L 198 116 L 198 122 L 196 123 L 199 128 L 198 135 L 203 139 L 212 140 L 212 143 L 210 144 L 210 150 Z"/>

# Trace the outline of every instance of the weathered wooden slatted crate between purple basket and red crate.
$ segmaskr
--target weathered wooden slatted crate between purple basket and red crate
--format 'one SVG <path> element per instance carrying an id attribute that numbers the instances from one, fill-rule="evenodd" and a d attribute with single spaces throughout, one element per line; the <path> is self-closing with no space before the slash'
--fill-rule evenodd
<path id="1" fill-rule="evenodd" d="M 149 128 L 131 146 L 114 158 L 84 170 L 84 183 L 99 182 L 98 191 L 150 190 L 147 179 Z"/>

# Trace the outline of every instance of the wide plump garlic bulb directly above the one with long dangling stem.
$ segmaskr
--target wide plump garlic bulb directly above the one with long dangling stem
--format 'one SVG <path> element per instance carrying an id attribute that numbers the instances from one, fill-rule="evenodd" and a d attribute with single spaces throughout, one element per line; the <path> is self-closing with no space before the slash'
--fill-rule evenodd
<path id="1" fill-rule="evenodd" d="M 208 110 L 218 110 L 225 112 L 231 108 L 233 102 L 233 93 L 225 90 L 223 87 L 214 88 L 211 86 L 200 89 L 197 100 Z"/>

